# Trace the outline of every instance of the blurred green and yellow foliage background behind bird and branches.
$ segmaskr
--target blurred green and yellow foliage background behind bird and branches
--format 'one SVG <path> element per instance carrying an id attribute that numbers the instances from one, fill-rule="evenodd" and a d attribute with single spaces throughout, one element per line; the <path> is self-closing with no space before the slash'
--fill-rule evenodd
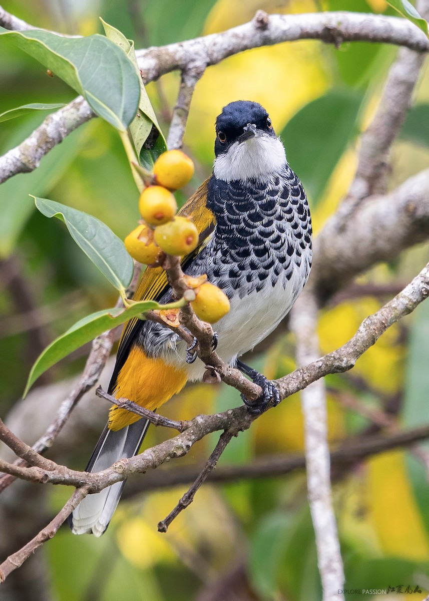
<path id="1" fill-rule="evenodd" d="M 222 31 L 248 21 L 258 8 L 269 13 L 353 10 L 394 14 L 383 0 L 10 0 L 2 5 L 34 25 L 82 35 L 101 32 L 98 17 L 102 16 L 135 40 L 136 48 Z M 308 193 L 317 233 L 351 183 L 359 132 L 377 108 L 396 51 L 382 44 L 342 44 L 336 50 L 315 41 L 300 41 L 250 50 L 210 67 L 196 86 L 184 138 L 184 150 L 195 161 L 195 177 L 178 200 L 183 201 L 211 172 L 214 120 L 222 106 L 231 100 L 256 100 L 267 108 L 276 132 L 281 133 L 288 160 Z M 73 99 L 73 91 L 58 78 L 48 77 L 40 64 L 8 41 L 1 41 L 0 56 L 0 112 L 30 102 Z M 165 134 L 178 83 L 178 74 L 172 73 L 148 85 Z M 425 68 L 415 103 L 394 144 L 391 188 L 428 165 L 429 77 Z M 42 119 L 43 115 L 37 115 L 2 123 L 1 151 L 25 139 Z M 138 220 L 138 194 L 120 138 L 99 119 L 68 136 L 32 174 L 17 175 L 0 186 L 3 418 L 22 394 L 29 368 L 44 346 L 81 317 L 116 301 L 115 290 L 76 247 L 64 225 L 36 212 L 29 193 L 91 213 L 121 237 L 136 227 Z M 400 260 L 374 267 L 359 283 L 400 290 L 424 266 L 427 251 L 427 244 L 410 249 Z M 334 299 L 320 317 L 323 353 L 348 340 L 362 319 L 388 298 L 389 294 L 362 296 L 354 291 L 342 300 Z M 427 421 L 428 334 L 429 304 L 423 304 L 389 329 L 351 373 L 326 378 L 333 447 L 345 436 L 377 430 L 367 418 L 345 409 L 347 397 L 385 410 L 398 426 Z M 84 348 L 73 353 L 37 384 L 49 385 L 79 373 L 87 352 Z M 251 362 L 269 377 L 284 375 L 294 367 L 293 338 L 273 337 L 270 349 Z M 194 385 L 163 411 L 185 419 L 239 403 L 239 394 L 233 389 Z M 147 441 L 155 444 L 168 435 L 152 429 Z M 68 450 L 73 468 L 84 468 L 96 439 L 94 432 L 82 448 Z M 215 436 L 206 438 L 168 469 L 204 462 L 214 444 Z M 295 396 L 258 419 L 251 432 L 234 439 L 221 465 L 302 450 L 302 415 Z M 157 522 L 184 490 L 175 487 L 122 502 L 108 532 L 99 540 L 73 537 L 68 529 L 61 529 L 46 545 L 44 569 L 50 598 L 321 598 L 303 472 L 204 486 L 168 533 L 158 534 Z M 414 589 L 419 585 L 423 593 L 407 598 L 422 599 L 429 590 L 425 463 L 407 451 L 381 454 L 351 471 L 338 470 L 333 493 L 347 588 L 410 585 Z M 65 487 L 50 490 L 43 515 L 59 510 L 69 495 L 70 489 Z M 29 511 L 40 515 L 35 507 Z"/>

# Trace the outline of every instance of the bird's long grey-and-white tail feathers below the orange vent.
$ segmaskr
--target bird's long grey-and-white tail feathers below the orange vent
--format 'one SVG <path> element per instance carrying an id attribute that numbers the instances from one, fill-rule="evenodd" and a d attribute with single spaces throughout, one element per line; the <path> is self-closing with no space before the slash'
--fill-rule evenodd
<path id="1" fill-rule="evenodd" d="M 100 472 L 124 457 L 136 455 L 148 426 L 147 419 L 139 419 L 117 431 L 106 426 L 85 471 Z M 85 497 L 68 517 L 73 534 L 92 532 L 97 537 L 101 536 L 117 508 L 124 484 L 125 481 L 117 482 L 102 492 Z"/>

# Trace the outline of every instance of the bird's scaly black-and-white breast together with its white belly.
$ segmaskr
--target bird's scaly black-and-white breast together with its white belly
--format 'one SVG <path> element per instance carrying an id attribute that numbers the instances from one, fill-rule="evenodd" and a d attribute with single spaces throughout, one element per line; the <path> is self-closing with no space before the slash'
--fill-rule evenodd
<path id="1" fill-rule="evenodd" d="M 212 177 L 208 206 L 216 215 L 210 241 L 186 269 L 207 273 L 231 302 L 214 329 L 227 363 L 251 350 L 290 311 L 311 269 L 311 217 L 303 187 L 287 163 L 267 177 L 225 182 Z M 183 341 L 165 358 L 184 367 Z M 190 380 L 204 365 L 187 365 Z"/>

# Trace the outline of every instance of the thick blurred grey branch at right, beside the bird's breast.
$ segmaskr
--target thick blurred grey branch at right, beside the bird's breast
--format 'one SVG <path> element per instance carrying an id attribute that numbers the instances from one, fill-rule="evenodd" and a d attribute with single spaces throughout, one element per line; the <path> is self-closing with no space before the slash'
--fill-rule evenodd
<path id="1" fill-rule="evenodd" d="M 334 221 L 335 216 L 314 240 L 309 285 L 320 305 L 359 273 L 428 239 L 429 169 L 385 196 L 365 198 L 341 231 Z"/>

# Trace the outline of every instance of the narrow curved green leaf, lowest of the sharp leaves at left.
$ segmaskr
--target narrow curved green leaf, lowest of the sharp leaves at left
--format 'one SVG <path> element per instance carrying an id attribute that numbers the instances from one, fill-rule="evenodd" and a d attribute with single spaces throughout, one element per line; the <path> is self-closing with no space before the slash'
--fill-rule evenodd
<path id="1" fill-rule="evenodd" d="M 87 344 L 91 340 L 94 340 L 97 336 L 106 332 L 109 329 L 116 328 L 125 323 L 127 320 L 132 319 L 150 311 L 162 307 L 155 301 L 140 301 L 121 309 L 114 307 L 112 309 L 103 309 L 92 313 L 84 319 L 81 319 L 78 323 L 71 326 L 64 334 L 56 338 L 52 343 L 49 344 L 46 349 L 38 356 L 28 376 L 27 383 L 25 385 L 24 396 L 27 394 L 35 380 L 52 365 L 58 363 L 61 359 L 64 359 L 67 355 L 70 355 L 76 349 Z"/>

